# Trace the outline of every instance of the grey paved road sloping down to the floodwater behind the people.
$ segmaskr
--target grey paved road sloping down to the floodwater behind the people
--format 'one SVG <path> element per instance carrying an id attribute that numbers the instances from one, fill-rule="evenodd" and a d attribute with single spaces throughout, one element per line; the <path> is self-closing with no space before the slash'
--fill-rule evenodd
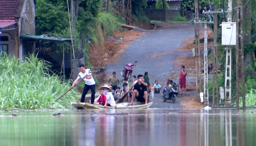
<path id="1" fill-rule="evenodd" d="M 166 74 L 171 70 L 177 70 L 172 66 L 173 53 L 183 41 L 194 37 L 193 25 L 182 25 L 180 27 L 168 28 L 158 31 L 147 31 L 146 35 L 133 41 L 130 46 L 121 54 L 120 61 L 107 65 L 106 73 L 112 75 L 116 71 L 121 79 L 121 71 L 126 63 L 138 61 L 133 68 L 132 75 L 149 72 L 150 83 L 158 80 L 163 86 L 166 81 Z M 119 85 L 121 87 L 122 85 Z M 130 80 L 130 87 L 132 80 Z M 163 102 L 159 94 L 155 94 L 155 102 L 150 108 L 181 108 L 180 98 L 176 102 Z"/>

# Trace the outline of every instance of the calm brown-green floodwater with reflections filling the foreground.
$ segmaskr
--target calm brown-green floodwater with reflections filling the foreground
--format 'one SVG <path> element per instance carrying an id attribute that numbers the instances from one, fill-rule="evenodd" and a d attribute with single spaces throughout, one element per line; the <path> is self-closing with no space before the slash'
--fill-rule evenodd
<path id="1" fill-rule="evenodd" d="M 97 115 L 91 113 L 128 113 Z M 256 110 L 2 112 L 1 146 L 256 146 Z"/>

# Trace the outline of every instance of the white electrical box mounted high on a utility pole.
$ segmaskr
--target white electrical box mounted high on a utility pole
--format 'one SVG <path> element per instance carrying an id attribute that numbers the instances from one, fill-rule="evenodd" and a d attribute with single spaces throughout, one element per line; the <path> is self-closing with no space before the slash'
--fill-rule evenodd
<path id="1" fill-rule="evenodd" d="M 221 23 L 221 44 L 236 45 L 237 44 L 237 24 L 236 22 Z"/>

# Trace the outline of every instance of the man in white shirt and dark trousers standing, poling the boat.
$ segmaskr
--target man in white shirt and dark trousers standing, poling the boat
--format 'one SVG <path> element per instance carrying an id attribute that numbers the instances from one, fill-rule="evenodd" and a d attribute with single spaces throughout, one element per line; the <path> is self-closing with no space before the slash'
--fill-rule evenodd
<path id="1" fill-rule="evenodd" d="M 78 82 L 78 80 L 80 78 L 83 78 L 85 76 L 85 78 L 83 79 L 85 81 L 85 87 L 83 88 L 83 94 L 81 96 L 80 102 L 85 102 L 85 95 L 88 93 L 88 91 L 90 89 L 92 92 L 91 104 L 93 104 L 94 98 L 95 98 L 95 80 L 92 77 L 91 69 L 89 69 L 89 68 L 85 69 L 85 68 L 86 68 L 85 65 L 83 65 L 83 64 L 79 65 L 79 69 L 81 72 L 78 74 L 76 80 L 74 80 L 72 87 L 74 87 L 74 85 L 76 85 L 76 83 Z"/>

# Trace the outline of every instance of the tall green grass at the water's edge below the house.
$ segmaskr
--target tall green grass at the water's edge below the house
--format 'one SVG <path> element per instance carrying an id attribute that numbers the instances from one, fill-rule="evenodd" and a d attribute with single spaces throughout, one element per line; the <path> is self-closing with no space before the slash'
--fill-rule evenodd
<path id="1" fill-rule="evenodd" d="M 1 53 L 2 54 L 2 53 Z M 78 101 L 78 91 L 68 92 L 54 103 L 71 86 L 57 75 L 50 75 L 49 63 L 34 57 L 22 62 L 7 54 L 0 58 L 0 110 L 72 109 L 71 101 Z M 53 104 L 54 103 L 54 104 Z"/>

